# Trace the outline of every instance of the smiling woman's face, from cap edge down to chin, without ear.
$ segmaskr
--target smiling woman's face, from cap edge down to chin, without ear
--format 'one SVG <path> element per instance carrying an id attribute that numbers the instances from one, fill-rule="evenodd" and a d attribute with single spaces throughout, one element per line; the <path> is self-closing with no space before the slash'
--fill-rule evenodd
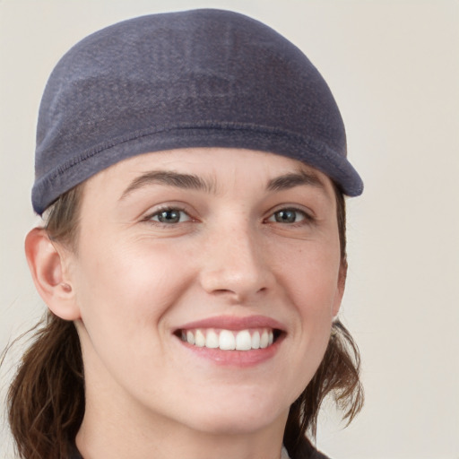
<path id="1" fill-rule="evenodd" d="M 285 422 L 342 299 L 331 181 L 264 152 L 154 152 L 100 172 L 68 256 L 88 396 L 204 432 Z"/>

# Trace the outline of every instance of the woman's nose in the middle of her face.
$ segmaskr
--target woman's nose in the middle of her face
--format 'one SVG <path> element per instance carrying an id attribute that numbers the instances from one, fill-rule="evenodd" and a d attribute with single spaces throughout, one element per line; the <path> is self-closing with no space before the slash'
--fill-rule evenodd
<path id="1" fill-rule="evenodd" d="M 201 285 L 213 295 L 245 302 L 273 287 L 263 236 L 247 227 L 218 230 L 207 238 L 202 253 Z"/>

